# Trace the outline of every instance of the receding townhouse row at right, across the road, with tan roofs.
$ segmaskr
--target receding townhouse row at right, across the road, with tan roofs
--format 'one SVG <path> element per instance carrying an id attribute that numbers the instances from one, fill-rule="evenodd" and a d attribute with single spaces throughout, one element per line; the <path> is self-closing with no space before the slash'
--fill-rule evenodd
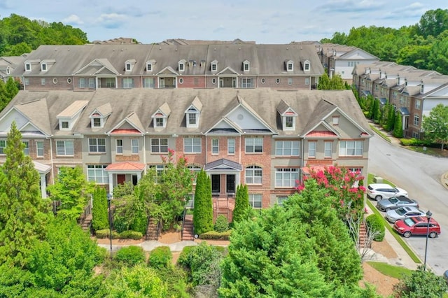
<path id="1" fill-rule="evenodd" d="M 393 62 L 360 64 L 353 70 L 353 85 L 360 96 L 372 94 L 390 103 L 402 115 L 406 137 L 420 138 L 423 115 L 437 104 L 448 106 L 448 76 Z"/>

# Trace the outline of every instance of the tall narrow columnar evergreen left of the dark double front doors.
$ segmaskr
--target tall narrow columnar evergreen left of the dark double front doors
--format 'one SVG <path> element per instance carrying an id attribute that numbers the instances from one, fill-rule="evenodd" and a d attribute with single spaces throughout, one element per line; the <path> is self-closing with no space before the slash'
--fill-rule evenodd
<path id="1" fill-rule="evenodd" d="M 197 174 L 193 225 L 195 234 L 213 230 L 213 205 L 211 202 L 211 181 L 204 170 Z"/>

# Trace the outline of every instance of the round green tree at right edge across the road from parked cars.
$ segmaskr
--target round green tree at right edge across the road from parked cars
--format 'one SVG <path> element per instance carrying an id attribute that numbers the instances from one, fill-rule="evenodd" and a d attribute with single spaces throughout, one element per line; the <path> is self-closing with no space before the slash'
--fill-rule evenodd
<path id="1" fill-rule="evenodd" d="M 448 141 L 448 106 L 437 104 L 429 115 L 423 115 L 421 127 L 425 132 L 425 138 L 440 143 L 443 150 L 444 144 Z"/>

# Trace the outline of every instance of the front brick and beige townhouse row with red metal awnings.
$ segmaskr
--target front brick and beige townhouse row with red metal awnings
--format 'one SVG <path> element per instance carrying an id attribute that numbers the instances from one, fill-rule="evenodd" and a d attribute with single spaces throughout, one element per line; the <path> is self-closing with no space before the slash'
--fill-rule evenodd
<path id="1" fill-rule="evenodd" d="M 82 166 L 112 191 L 151 167 L 162 171 L 170 148 L 193 171 L 207 171 L 214 197 L 248 185 L 255 208 L 281 203 L 310 167 L 367 176 L 373 135 L 351 90 L 20 91 L 0 113 L 0 163 L 13 121 L 43 196 L 61 166 Z"/>

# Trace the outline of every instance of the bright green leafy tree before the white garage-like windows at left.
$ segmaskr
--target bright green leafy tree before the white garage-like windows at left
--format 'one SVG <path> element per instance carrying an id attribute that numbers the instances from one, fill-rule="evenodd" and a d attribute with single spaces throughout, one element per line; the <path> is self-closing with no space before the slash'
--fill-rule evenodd
<path id="1" fill-rule="evenodd" d="M 94 183 L 85 180 L 80 166 L 59 168 L 55 184 L 47 188 L 51 199 L 61 202 L 57 214 L 73 220 L 83 213 L 93 189 Z"/>

